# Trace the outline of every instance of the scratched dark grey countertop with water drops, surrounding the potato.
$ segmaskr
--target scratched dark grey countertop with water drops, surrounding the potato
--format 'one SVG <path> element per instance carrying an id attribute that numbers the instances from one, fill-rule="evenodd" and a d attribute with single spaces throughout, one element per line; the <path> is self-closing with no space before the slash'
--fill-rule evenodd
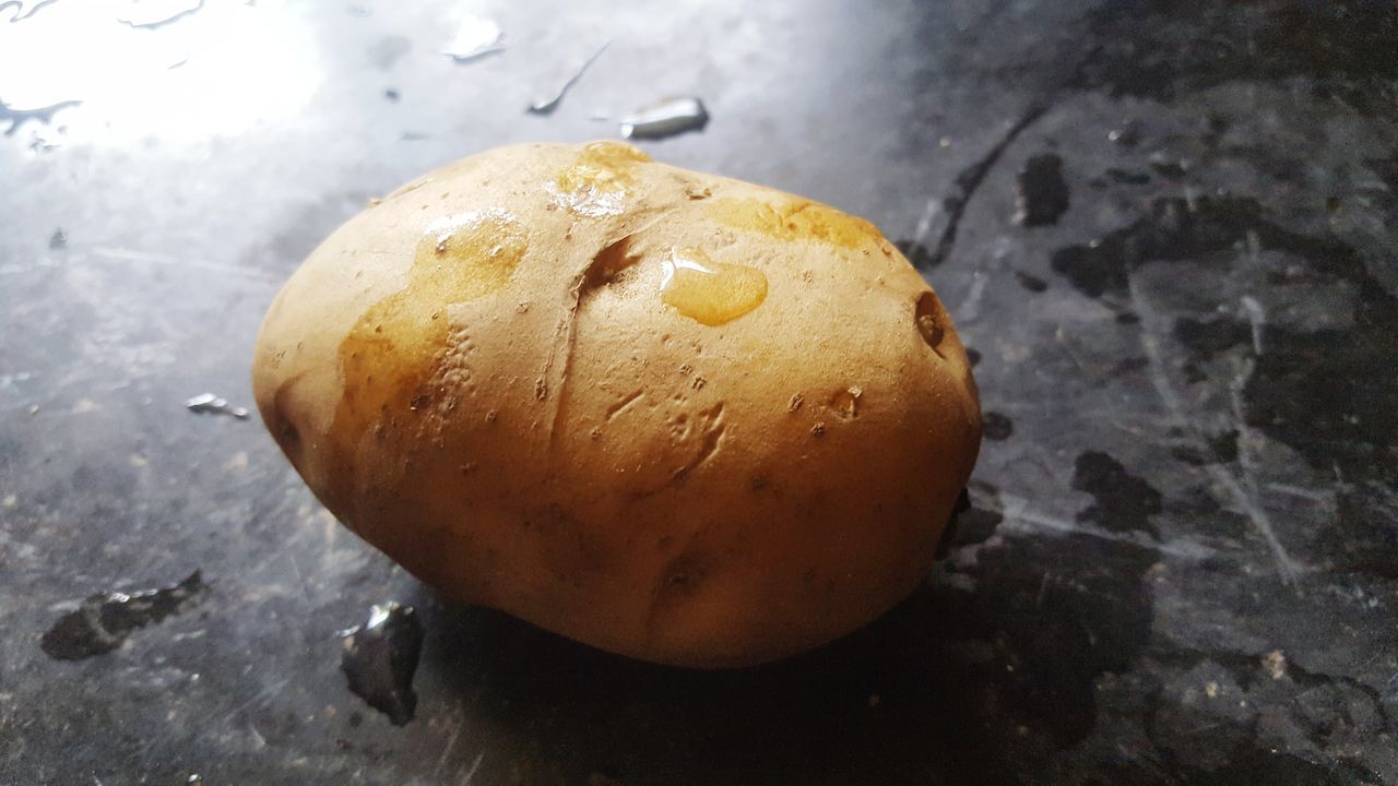
<path id="1" fill-rule="evenodd" d="M 1395 14 L 0 3 L 0 783 L 1398 783 Z M 370 197 L 671 95 L 644 150 L 879 225 L 986 408 L 924 586 L 755 670 L 445 606 L 185 407 Z"/>

